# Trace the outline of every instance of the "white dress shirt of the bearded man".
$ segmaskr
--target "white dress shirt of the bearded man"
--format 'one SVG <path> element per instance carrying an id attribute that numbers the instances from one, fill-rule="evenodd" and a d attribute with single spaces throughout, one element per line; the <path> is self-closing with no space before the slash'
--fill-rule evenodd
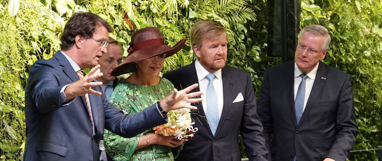
<path id="1" fill-rule="evenodd" d="M 204 113 L 207 113 L 207 102 L 206 102 L 206 92 L 207 92 L 207 85 L 208 85 L 208 79 L 206 76 L 210 73 L 204 67 L 199 63 L 199 61 L 195 61 L 195 68 L 196 68 L 196 74 L 197 79 L 199 81 L 199 89 L 204 94 L 201 95 L 203 98 L 202 106 L 204 109 Z M 217 104 L 219 108 L 219 119 L 220 116 L 222 116 L 223 111 L 223 80 L 222 80 L 222 69 L 219 69 L 218 71 L 214 72 L 215 78 L 212 80 L 212 84 L 214 85 L 214 89 L 217 95 Z"/>

